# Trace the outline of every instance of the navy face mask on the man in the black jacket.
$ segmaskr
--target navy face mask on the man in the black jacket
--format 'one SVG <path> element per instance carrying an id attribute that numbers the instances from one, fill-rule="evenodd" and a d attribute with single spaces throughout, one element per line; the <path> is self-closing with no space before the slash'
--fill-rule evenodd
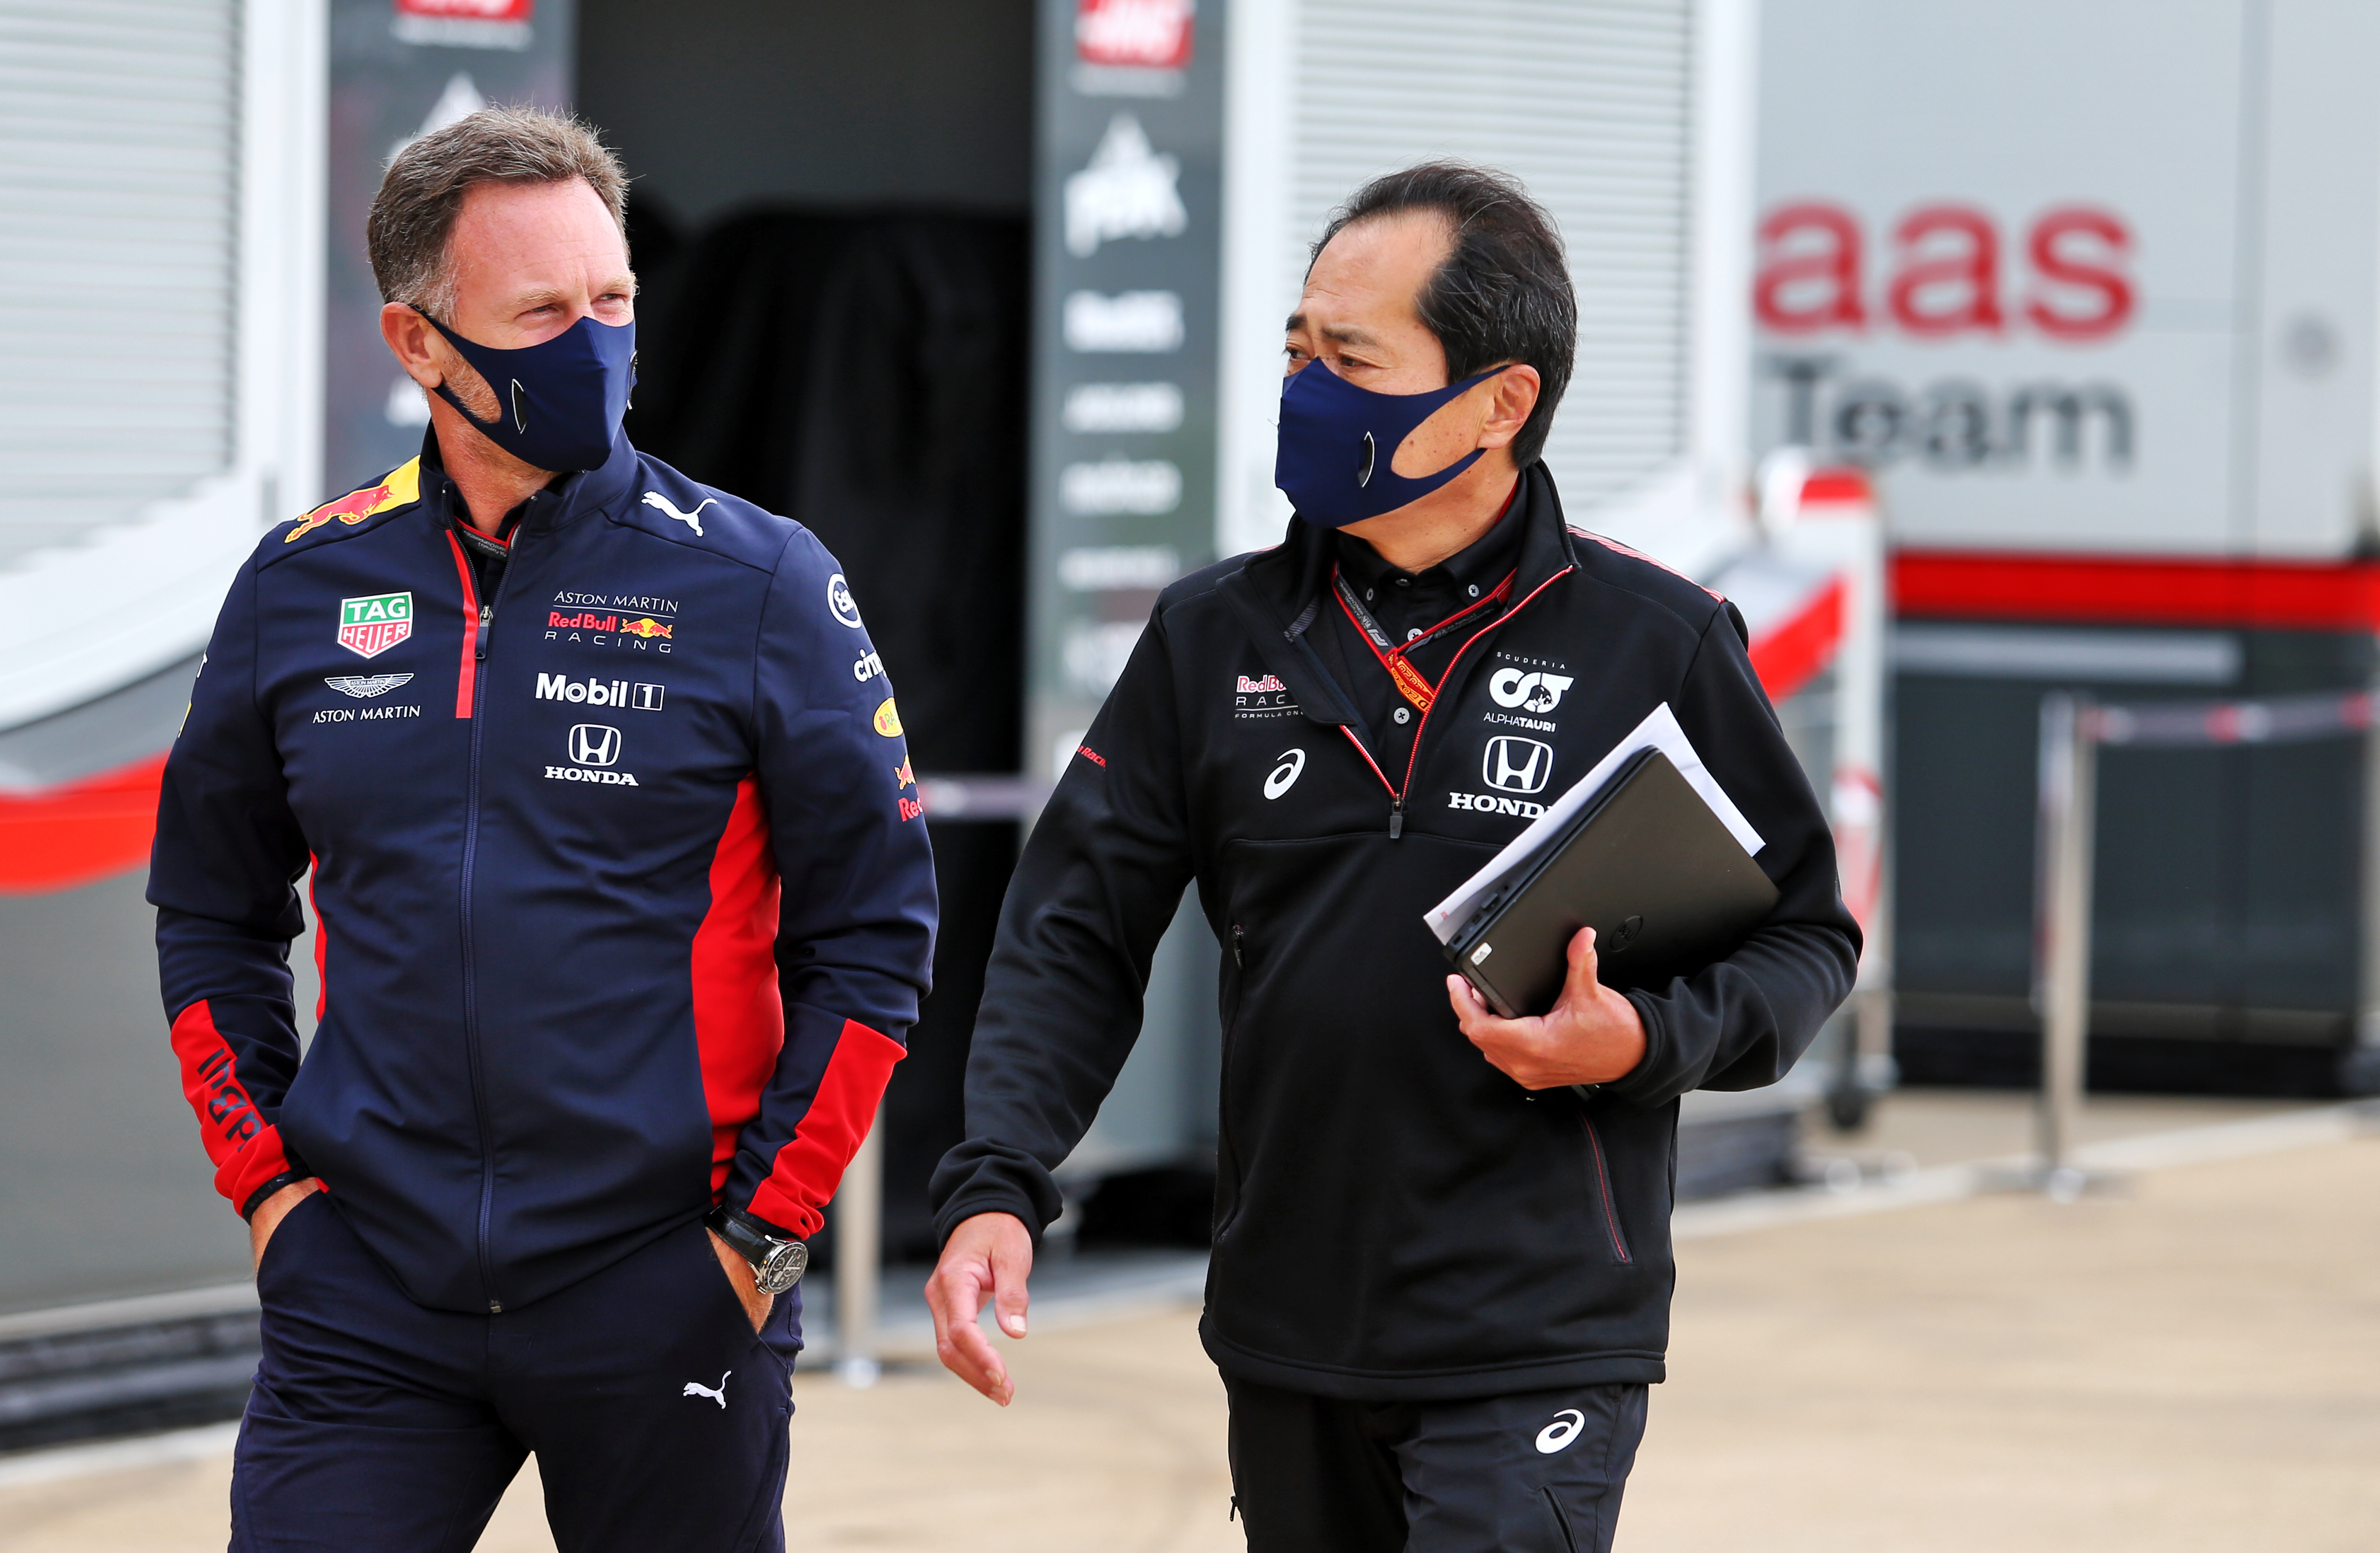
<path id="1" fill-rule="evenodd" d="M 1407 480 L 1388 466 L 1397 447 L 1442 404 L 1499 371 L 1504 369 L 1490 366 L 1461 383 L 1418 395 L 1383 395 L 1357 388 L 1321 361 L 1307 361 L 1280 385 L 1280 452 L 1273 457 L 1273 485 L 1290 497 L 1297 516 L 1316 528 L 1347 528 L 1418 502 L 1478 464 L 1488 449 L 1473 447 L 1438 473 Z"/>

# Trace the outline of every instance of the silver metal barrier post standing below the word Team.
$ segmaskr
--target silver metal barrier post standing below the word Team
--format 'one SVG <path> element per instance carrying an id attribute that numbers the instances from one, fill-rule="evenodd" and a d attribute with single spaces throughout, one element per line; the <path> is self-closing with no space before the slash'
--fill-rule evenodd
<path id="1" fill-rule="evenodd" d="M 2042 697 L 2037 999 L 2042 1011 L 2042 1187 L 2071 1201 L 2082 1192 L 2073 1163 L 2082 1113 L 2082 1054 L 2090 1023 L 2092 832 L 2099 744 L 2090 697 Z"/>

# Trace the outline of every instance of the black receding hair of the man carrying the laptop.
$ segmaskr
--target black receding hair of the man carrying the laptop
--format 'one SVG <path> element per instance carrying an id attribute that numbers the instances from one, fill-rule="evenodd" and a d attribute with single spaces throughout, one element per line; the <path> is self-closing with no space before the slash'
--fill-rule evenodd
<path id="1" fill-rule="evenodd" d="M 1454 231 L 1454 250 L 1414 297 L 1421 323 L 1447 352 L 1447 383 L 1499 361 L 1537 369 L 1537 409 L 1511 440 L 1511 461 L 1528 469 L 1545 452 L 1578 357 L 1578 297 L 1561 231 L 1511 174 L 1421 162 L 1373 178 L 1340 205 L 1307 269 L 1347 226 L 1416 209 L 1438 212 Z"/>

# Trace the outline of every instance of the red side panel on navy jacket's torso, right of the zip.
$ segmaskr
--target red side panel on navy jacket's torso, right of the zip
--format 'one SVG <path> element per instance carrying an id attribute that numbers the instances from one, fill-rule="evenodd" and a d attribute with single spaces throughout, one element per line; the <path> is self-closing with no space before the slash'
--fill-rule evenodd
<path id="1" fill-rule="evenodd" d="M 728 1184 L 735 1139 L 785 1049 L 785 999 L 776 985 L 776 856 L 759 780 L 735 785 L 719 849 L 712 851 L 712 908 L 695 928 L 695 1046 L 702 1099 L 712 1113 L 712 1192 Z"/>

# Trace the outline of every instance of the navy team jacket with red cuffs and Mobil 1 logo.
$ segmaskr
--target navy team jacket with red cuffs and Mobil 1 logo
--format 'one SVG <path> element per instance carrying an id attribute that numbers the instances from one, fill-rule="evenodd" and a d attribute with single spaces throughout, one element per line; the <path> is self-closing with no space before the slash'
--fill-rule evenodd
<path id="1" fill-rule="evenodd" d="M 809 530 L 626 438 L 528 502 L 495 597 L 459 511 L 431 449 L 276 528 L 207 647 L 150 901 L 217 1187 L 319 1175 L 440 1310 L 714 1201 L 807 1237 L 935 930 L 859 606 Z"/>

